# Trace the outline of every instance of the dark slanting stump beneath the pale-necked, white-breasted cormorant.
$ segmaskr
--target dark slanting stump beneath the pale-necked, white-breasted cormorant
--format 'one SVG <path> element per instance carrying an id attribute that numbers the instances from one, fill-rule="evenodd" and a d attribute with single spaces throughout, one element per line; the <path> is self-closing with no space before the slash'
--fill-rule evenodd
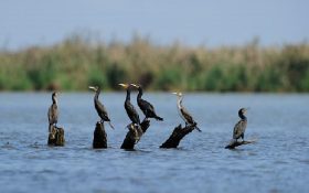
<path id="1" fill-rule="evenodd" d="M 172 135 L 169 139 L 163 142 L 160 148 L 177 148 L 184 136 L 192 132 L 194 130 L 194 126 L 187 126 L 184 128 L 179 125 L 174 128 Z"/>

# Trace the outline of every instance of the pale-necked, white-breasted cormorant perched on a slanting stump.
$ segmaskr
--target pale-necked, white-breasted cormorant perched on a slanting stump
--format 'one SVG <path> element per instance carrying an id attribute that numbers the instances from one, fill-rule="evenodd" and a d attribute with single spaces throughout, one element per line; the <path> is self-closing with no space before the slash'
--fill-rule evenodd
<path id="1" fill-rule="evenodd" d="M 172 93 L 172 94 L 178 96 L 177 106 L 178 106 L 179 115 L 184 120 L 185 126 L 188 126 L 188 125 L 189 126 L 193 126 L 194 129 L 196 129 L 198 131 L 202 132 L 202 130 L 200 128 L 198 128 L 198 124 L 194 121 L 193 117 L 182 106 L 182 98 L 183 98 L 182 93 Z"/>

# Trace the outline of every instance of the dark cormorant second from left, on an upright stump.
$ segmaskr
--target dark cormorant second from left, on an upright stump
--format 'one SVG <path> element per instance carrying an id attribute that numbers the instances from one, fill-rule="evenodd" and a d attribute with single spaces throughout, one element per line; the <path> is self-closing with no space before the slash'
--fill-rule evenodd
<path id="1" fill-rule="evenodd" d="M 94 103 L 95 103 L 95 108 L 96 108 L 97 115 L 100 117 L 100 122 L 103 124 L 104 121 L 107 121 L 109 124 L 109 126 L 111 127 L 111 129 L 115 129 L 114 126 L 110 124 L 110 119 L 108 117 L 105 106 L 98 100 L 100 88 L 98 86 L 89 86 L 89 89 L 93 89 L 94 92 L 96 92 Z"/>

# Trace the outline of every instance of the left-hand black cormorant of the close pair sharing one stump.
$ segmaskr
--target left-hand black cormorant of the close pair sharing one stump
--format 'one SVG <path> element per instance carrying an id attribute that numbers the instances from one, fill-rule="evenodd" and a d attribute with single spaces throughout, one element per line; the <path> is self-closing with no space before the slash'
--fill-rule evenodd
<path id="1" fill-rule="evenodd" d="M 140 119 L 139 119 L 138 112 L 136 111 L 135 107 L 132 106 L 132 104 L 130 101 L 130 94 L 131 94 L 132 86 L 129 84 L 119 84 L 119 85 L 127 89 L 125 109 L 128 114 L 128 117 L 131 119 L 134 125 L 140 125 Z"/>

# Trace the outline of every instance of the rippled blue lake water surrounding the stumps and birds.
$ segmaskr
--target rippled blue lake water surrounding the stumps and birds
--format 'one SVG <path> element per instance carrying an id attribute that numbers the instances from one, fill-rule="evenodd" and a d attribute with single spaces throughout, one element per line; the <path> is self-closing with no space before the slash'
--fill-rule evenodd
<path id="1" fill-rule="evenodd" d="M 100 97 L 116 130 L 106 126 L 108 149 L 92 149 L 98 119 L 93 96 L 60 95 L 66 144 L 51 148 L 51 94 L 0 94 L 1 192 L 308 191 L 308 95 L 187 94 L 183 104 L 203 132 L 193 131 L 178 149 L 164 150 L 158 147 L 181 122 L 175 96 L 147 93 L 164 121 L 151 121 L 136 151 L 119 149 L 129 122 L 124 93 Z M 251 107 L 245 138 L 258 141 L 226 150 L 241 107 Z"/>

